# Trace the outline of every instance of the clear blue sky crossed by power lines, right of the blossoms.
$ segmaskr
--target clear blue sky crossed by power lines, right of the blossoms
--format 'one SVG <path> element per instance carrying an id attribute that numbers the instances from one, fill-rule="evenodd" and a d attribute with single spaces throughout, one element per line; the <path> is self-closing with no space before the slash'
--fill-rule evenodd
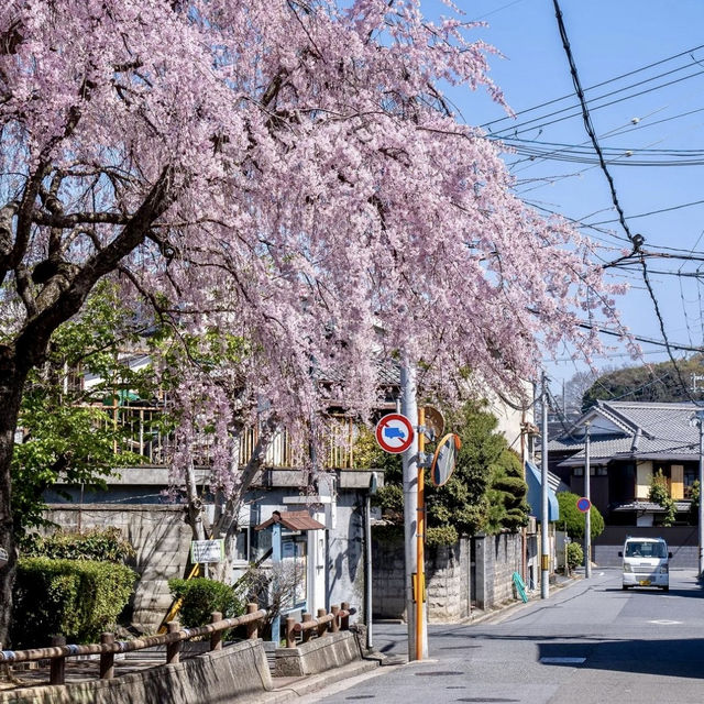
<path id="1" fill-rule="evenodd" d="M 509 163 L 520 161 L 512 167 L 518 193 L 541 208 L 597 223 L 598 230 L 583 231 L 612 250 L 604 252 L 605 258 L 615 258 L 627 245 L 625 233 L 617 222 L 608 222 L 616 211 L 606 177 L 593 163 L 595 153 L 574 96 L 552 0 L 460 0 L 458 4 L 466 19 L 487 22 L 476 36 L 504 54 L 505 58 L 491 59 L 492 77 L 519 113 L 515 120 L 505 120 L 502 108 L 485 94 L 453 91 L 451 98 L 464 120 L 471 124 L 501 120 L 487 130 L 534 155 L 552 151 L 553 158 L 506 157 Z M 645 238 L 646 251 L 670 255 L 648 260 L 667 338 L 672 343 L 701 345 L 704 290 L 696 277 L 675 274 L 695 274 L 700 267 L 704 272 L 704 262 L 679 258 L 704 252 L 704 202 L 681 207 L 704 200 L 704 46 L 692 51 L 704 45 L 704 2 L 562 0 L 560 4 L 592 121 L 631 232 Z M 437 0 L 425 7 L 430 13 L 442 11 Z M 624 74 L 630 75 L 613 80 Z M 604 85 L 591 88 L 597 84 Z M 604 106 L 607 102 L 612 105 Z M 547 114 L 565 108 L 571 109 Z M 512 141 L 516 138 L 520 141 Z M 563 152 L 557 145 L 573 148 Z M 579 152 L 576 145 L 582 145 Z M 661 209 L 671 210 L 644 216 Z M 662 340 L 640 270 L 614 270 L 613 275 L 631 284 L 619 301 L 625 323 L 635 334 Z M 642 346 L 646 361 L 667 359 L 661 348 Z M 597 364 L 631 363 L 623 352 L 616 350 Z M 558 351 L 558 356 L 569 358 L 570 352 Z M 547 366 L 556 384 L 585 369 L 566 361 Z"/>

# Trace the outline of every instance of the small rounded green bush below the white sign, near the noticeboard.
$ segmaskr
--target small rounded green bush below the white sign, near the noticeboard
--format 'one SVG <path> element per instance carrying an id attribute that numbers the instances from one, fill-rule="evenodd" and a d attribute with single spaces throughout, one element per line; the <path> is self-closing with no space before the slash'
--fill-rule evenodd
<path id="1" fill-rule="evenodd" d="M 235 591 L 216 580 L 169 580 L 168 588 L 174 598 L 183 600 L 178 619 L 186 628 L 209 624 L 212 612 L 220 612 L 223 618 L 244 613 L 244 604 Z"/>

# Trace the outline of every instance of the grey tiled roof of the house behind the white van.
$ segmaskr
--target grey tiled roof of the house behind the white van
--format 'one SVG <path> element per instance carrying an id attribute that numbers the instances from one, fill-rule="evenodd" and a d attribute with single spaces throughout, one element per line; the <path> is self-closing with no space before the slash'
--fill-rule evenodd
<path id="1" fill-rule="evenodd" d="M 688 460 L 698 457 L 700 430 L 692 416 L 695 404 L 647 404 L 637 402 L 598 402 L 587 414 L 548 444 L 549 452 L 573 454 L 561 464 L 583 464 L 584 424 L 594 416 L 616 425 L 622 432 L 592 435 L 590 459 L 603 463 L 610 459 L 641 458 Z"/>

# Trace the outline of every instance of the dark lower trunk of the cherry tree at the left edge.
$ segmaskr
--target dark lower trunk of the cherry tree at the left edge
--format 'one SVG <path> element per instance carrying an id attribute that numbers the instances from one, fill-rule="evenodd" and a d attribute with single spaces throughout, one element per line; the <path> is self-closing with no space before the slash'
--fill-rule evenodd
<path id="1" fill-rule="evenodd" d="M 16 571 L 16 546 L 12 521 L 12 484 L 10 468 L 14 431 L 26 371 L 18 369 L 8 348 L 0 346 L 0 547 L 8 552 L 8 563 L 0 568 L 0 644 L 8 648 L 12 613 L 12 586 Z"/>

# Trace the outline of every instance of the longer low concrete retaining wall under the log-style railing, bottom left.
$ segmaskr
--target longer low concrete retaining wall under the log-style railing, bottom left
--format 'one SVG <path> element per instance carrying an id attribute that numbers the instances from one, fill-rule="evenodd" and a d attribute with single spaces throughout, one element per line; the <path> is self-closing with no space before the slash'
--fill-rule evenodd
<path id="1" fill-rule="evenodd" d="M 15 690 L 0 694 L 0 704 L 237 704 L 272 688 L 262 642 L 248 640 L 114 680 Z"/>

